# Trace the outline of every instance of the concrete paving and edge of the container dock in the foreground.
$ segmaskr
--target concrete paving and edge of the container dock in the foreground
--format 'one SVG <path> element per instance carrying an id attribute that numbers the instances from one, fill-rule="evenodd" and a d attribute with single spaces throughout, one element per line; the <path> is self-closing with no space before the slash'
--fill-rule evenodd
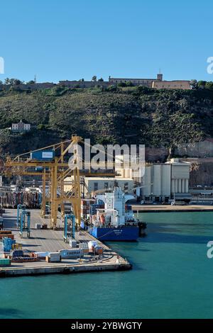
<path id="1" fill-rule="evenodd" d="M 40 210 L 31 210 L 31 238 L 20 237 L 16 228 L 17 210 L 8 209 L 4 214 L 4 229 L 12 230 L 16 243 L 22 244 L 23 251 L 29 252 L 58 252 L 60 249 L 70 249 L 70 245 L 63 241 L 63 230 L 37 230 L 35 223 L 46 223 L 49 225 L 48 218 L 40 217 Z M 59 219 L 59 225 L 62 227 L 62 220 Z M 88 232 L 76 232 L 77 242 L 89 242 L 96 240 L 104 249 L 102 257 L 85 254 L 82 259 L 62 259 L 57 263 L 48 263 L 46 261 L 33 262 L 12 262 L 11 266 L 0 266 L 0 277 L 6 276 L 24 276 L 38 275 L 48 273 L 80 273 L 91 271 L 121 271 L 131 269 L 131 264 L 116 252 L 107 247 L 99 240 L 89 235 Z"/>

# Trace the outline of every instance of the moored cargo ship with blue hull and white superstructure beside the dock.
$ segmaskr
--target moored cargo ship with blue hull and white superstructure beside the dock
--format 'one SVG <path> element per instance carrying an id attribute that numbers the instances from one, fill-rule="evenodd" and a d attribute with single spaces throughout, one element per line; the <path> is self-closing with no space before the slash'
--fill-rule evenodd
<path id="1" fill-rule="evenodd" d="M 97 198 L 97 203 L 90 205 L 90 235 L 102 241 L 136 241 L 140 222 L 134 218 L 131 205 L 125 204 L 129 196 L 114 188 Z"/>

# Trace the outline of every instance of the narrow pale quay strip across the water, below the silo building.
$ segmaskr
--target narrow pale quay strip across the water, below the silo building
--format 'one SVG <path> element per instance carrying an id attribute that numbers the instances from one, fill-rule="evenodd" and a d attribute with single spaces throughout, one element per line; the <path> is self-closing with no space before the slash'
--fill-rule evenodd
<path id="1" fill-rule="evenodd" d="M 213 212 L 213 205 L 132 205 L 133 213 Z"/>

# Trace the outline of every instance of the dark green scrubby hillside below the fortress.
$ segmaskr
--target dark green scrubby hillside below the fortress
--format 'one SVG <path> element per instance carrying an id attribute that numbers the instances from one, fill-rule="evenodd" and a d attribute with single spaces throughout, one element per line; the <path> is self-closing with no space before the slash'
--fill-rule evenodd
<path id="1" fill-rule="evenodd" d="M 34 125 L 11 133 L 12 122 Z M 37 149 L 77 133 L 92 143 L 141 143 L 175 147 L 213 136 L 213 91 L 169 91 L 138 87 L 0 92 L 3 156 Z"/>

